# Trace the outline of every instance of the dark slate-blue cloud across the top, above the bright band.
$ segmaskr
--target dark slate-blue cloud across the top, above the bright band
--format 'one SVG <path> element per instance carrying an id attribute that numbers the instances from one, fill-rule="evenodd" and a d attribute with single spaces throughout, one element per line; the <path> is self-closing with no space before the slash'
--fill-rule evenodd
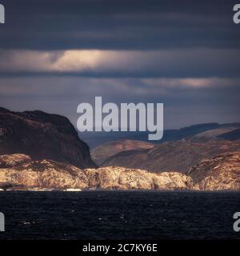
<path id="1" fill-rule="evenodd" d="M 5 49 L 238 48 L 234 1 L 2 0 Z"/>

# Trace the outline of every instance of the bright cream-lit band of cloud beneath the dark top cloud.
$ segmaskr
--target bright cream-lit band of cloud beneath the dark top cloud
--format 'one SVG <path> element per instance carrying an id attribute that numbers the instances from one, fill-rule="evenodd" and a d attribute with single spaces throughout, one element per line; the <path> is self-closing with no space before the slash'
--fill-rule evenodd
<path id="1" fill-rule="evenodd" d="M 238 77 L 236 50 L 0 50 L 1 72 L 84 72 L 122 77 Z M 195 86 L 199 86 L 195 83 Z"/>

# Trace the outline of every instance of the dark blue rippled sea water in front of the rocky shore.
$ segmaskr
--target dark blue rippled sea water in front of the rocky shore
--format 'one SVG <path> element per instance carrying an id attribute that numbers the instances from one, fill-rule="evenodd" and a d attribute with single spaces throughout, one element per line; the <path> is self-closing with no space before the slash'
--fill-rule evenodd
<path id="1" fill-rule="evenodd" d="M 240 193 L 0 192 L 0 239 L 229 239 Z"/>

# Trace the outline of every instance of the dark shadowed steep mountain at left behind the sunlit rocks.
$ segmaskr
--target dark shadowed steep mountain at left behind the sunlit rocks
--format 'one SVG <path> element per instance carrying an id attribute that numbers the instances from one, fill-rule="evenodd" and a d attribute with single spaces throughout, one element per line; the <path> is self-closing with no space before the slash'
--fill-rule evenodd
<path id="1" fill-rule="evenodd" d="M 42 111 L 12 112 L 0 108 L 0 155 L 27 154 L 80 168 L 95 167 L 89 146 L 70 121 Z"/>

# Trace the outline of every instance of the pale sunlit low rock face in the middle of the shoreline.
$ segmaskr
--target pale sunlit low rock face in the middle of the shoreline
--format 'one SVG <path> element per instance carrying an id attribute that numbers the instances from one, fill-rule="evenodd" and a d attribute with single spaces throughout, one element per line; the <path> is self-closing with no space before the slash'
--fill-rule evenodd
<path id="1" fill-rule="evenodd" d="M 189 190 L 193 189 L 190 177 L 176 172 L 153 174 L 146 170 L 123 167 L 103 167 L 85 170 L 90 188 L 119 190 Z"/>

